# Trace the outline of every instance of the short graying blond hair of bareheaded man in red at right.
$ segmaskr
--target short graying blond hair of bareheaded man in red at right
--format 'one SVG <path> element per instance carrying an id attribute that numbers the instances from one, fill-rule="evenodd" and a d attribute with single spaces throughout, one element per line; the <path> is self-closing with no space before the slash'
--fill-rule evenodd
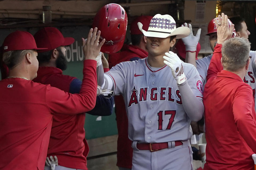
<path id="1" fill-rule="evenodd" d="M 222 66 L 228 71 L 237 71 L 246 65 L 251 43 L 245 38 L 231 38 L 222 44 Z"/>

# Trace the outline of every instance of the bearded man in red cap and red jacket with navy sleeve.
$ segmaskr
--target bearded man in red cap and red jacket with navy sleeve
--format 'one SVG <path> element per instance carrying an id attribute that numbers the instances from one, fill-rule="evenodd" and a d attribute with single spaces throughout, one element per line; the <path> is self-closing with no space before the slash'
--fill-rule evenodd
<path id="1" fill-rule="evenodd" d="M 63 75 L 66 69 L 65 47 L 74 43 L 72 37 L 63 37 L 62 33 L 54 27 L 45 27 L 34 35 L 37 46 L 47 47 L 38 50 L 39 68 L 34 82 L 50 84 L 65 92 L 79 93 L 82 82 L 68 75 Z M 105 66 L 108 67 L 108 66 Z M 108 69 L 109 70 L 109 69 Z M 107 116 L 113 110 L 113 97 L 106 99 L 97 96 L 96 105 L 93 110 L 87 112 L 92 115 Z M 53 115 L 53 125 L 47 156 L 57 156 L 58 169 L 87 169 L 86 156 L 89 146 L 85 139 L 85 113 L 76 115 Z M 47 168 L 48 167 L 48 168 Z M 50 167 L 47 166 L 46 169 Z"/>

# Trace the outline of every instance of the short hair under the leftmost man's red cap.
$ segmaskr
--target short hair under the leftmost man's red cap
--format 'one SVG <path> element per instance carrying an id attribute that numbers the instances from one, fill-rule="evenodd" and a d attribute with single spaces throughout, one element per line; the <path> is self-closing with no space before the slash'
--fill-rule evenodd
<path id="1" fill-rule="evenodd" d="M 33 50 L 13 50 L 3 53 L 3 62 L 9 69 L 13 69 L 21 61 L 22 57 L 27 53 L 32 53 Z"/>

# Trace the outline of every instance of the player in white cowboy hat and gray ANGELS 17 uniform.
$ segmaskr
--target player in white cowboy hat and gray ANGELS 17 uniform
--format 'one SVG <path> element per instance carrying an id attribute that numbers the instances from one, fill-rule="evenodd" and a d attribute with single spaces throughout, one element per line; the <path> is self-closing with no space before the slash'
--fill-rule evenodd
<path id="1" fill-rule="evenodd" d="M 147 37 L 148 57 L 112 67 L 103 89 L 124 97 L 132 169 L 193 169 L 190 121 L 203 115 L 202 82 L 193 65 L 168 52 L 190 29 L 176 28 L 170 15 L 161 14 L 153 17 L 148 31 L 142 26 L 138 22 Z"/>

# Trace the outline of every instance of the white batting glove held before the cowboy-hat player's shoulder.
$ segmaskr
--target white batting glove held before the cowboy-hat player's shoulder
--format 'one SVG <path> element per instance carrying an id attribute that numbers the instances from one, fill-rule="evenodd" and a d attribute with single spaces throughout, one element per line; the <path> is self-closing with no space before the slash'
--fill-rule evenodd
<path id="1" fill-rule="evenodd" d="M 181 59 L 179 59 L 177 54 L 169 51 L 169 53 L 165 53 L 163 58 L 165 59 L 163 62 L 171 67 L 171 73 L 173 74 L 174 79 L 177 81 L 177 84 L 184 83 L 187 78 L 183 72 Z"/>

